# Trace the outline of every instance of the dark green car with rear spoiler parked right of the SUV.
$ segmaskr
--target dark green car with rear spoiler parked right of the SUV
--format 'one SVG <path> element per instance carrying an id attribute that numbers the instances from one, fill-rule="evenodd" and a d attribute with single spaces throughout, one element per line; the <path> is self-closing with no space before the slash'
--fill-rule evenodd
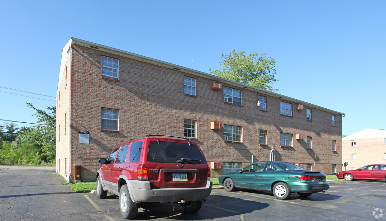
<path id="1" fill-rule="evenodd" d="M 254 162 L 237 172 L 222 174 L 218 181 L 226 191 L 271 191 L 278 199 L 287 199 L 291 192 L 307 197 L 314 192 L 325 192 L 330 188 L 326 174 L 309 171 L 284 161 Z"/>

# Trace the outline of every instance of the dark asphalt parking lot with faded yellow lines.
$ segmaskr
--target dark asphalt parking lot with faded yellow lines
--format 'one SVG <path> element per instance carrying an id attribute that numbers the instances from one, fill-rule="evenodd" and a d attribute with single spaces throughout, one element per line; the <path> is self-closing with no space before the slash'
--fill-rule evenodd
<path id="1" fill-rule="evenodd" d="M 117 196 L 74 193 L 64 182 L 52 168 L 0 169 L 0 219 L 125 220 Z M 293 193 L 287 200 L 271 193 L 214 189 L 197 213 L 184 213 L 178 204 L 153 203 L 143 205 L 136 220 L 386 220 L 385 193 L 386 181 L 334 181 L 325 193 Z"/>

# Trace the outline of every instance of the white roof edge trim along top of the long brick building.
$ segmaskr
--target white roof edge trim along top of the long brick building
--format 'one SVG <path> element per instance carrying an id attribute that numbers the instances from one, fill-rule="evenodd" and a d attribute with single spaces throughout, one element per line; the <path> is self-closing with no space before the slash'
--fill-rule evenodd
<path id="1" fill-rule="evenodd" d="M 181 72 L 188 73 L 188 74 L 193 74 L 195 76 L 200 76 L 200 77 L 203 77 L 203 78 L 211 79 L 213 81 L 219 81 L 221 83 L 226 83 L 226 84 L 229 84 L 229 85 L 232 85 L 232 86 L 236 86 L 236 87 L 239 87 L 239 88 L 245 88 L 245 89 L 248 89 L 248 90 L 251 90 L 251 91 L 256 91 L 256 92 L 261 93 L 261 94 L 266 94 L 266 95 L 273 96 L 273 97 L 276 97 L 276 98 L 280 98 L 280 99 L 283 99 L 283 100 L 286 100 L 286 101 L 291 101 L 291 102 L 298 103 L 298 104 L 301 104 L 301 105 L 309 106 L 309 107 L 316 108 L 316 109 L 319 109 L 319 110 L 323 110 L 323 111 L 326 111 L 326 112 L 329 112 L 329 113 L 333 113 L 333 114 L 336 114 L 336 115 L 342 115 L 342 116 L 345 115 L 344 113 L 340 113 L 338 111 L 334 111 L 334 110 L 330 110 L 330 109 L 327 109 L 327 108 L 323 108 L 321 106 L 313 105 L 311 103 L 308 103 L 308 102 L 305 102 L 305 101 L 301 101 L 301 100 L 297 100 L 295 98 L 291 98 L 291 97 L 288 97 L 288 96 L 284 96 L 282 94 L 274 93 L 274 92 L 267 91 L 267 90 L 264 90 L 264 89 L 261 89 L 261 88 L 256 88 L 256 87 L 253 87 L 253 86 L 250 86 L 250 85 L 247 85 L 247 84 L 242 84 L 242 83 L 239 83 L 239 82 L 236 82 L 236 81 L 231 81 L 229 79 L 220 78 L 220 77 L 215 76 L 213 74 L 208 74 L 208 73 L 204 73 L 204 72 L 201 72 L 201 71 L 196 71 L 194 69 L 190 69 L 190 68 L 187 68 L 187 67 L 179 66 L 179 65 L 176 65 L 176 64 L 171 64 L 169 62 L 160 61 L 160 60 L 157 60 L 157 59 L 154 59 L 154 58 L 151 58 L 151 57 L 146 57 L 146 56 L 142 56 L 142 55 L 139 55 L 139 54 L 134 54 L 134 53 L 131 53 L 131 52 L 123 51 L 123 50 L 120 50 L 120 49 L 115 49 L 115 48 L 112 48 L 112 47 L 103 46 L 103 45 L 100 45 L 100 44 L 96 44 L 96 43 L 93 43 L 93 42 L 88 42 L 88 41 L 77 39 L 77 38 L 74 38 L 74 37 L 71 37 L 71 40 L 72 40 L 72 44 L 80 45 L 80 46 L 83 46 L 83 47 L 91 47 L 93 49 L 96 49 L 96 50 L 99 50 L 99 51 L 103 51 L 103 52 L 107 52 L 109 54 L 116 54 L 118 56 L 128 57 L 128 58 L 131 58 L 131 59 L 134 59 L 134 60 L 143 61 L 143 62 L 146 62 L 146 63 L 154 64 L 154 65 L 161 66 L 161 67 L 166 67 L 166 68 L 169 68 L 169 69 L 174 69 L 174 70 L 181 71 Z M 63 49 L 63 51 L 64 51 L 64 49 Z M 62 59 L 63 59 L 63 55 L 62 55 Z"/>

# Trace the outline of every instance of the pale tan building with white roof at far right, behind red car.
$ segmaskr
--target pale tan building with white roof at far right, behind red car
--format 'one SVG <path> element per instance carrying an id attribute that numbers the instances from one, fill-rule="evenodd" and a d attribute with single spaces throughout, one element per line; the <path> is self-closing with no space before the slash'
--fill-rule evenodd
<path id="1" fill-rule="evenodd" d="M 386 131 L 367 128 L 342 138 L 342 164 L 344 162 L 349 163 L 347 170 L 386 164 Z"/>

